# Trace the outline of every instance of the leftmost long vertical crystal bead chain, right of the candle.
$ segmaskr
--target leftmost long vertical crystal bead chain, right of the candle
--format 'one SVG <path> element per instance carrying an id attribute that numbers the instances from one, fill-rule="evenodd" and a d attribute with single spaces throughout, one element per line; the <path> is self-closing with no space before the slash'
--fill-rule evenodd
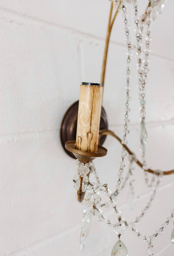
<path id="1" fill-rule="evenodd" d="M 129 26 L 128 26 L 128 19 L 127 19 L 127 12 L 126 12 L 126 7 L 123 5 L 122 6 L 122 11 L 123 11 L 123 17 L 124 17 L 124 27 L 125 27 L 125 33 L 126 33 L 126 42 L 127 42 L 127 70 L 126 70 L 126 83 L 127 86 L 125 87 L 126 89 L 126 103 L 125 103 L 125 119 L 124 119 L 124 135 L 123 135 L 123 139 L 122 139 L 122 144 L 126 145 L 127 144 L 127 134 L 129 133 L 128 130 L 128 123 L 129 123 L 129 112 L 130 112 L 130 108 L 129 108 L 129 102 L 130 102 L 130 96 L 129 96 L 129 92 L 130 92 L 130 56 L 131 56 L 131 42 L 130 42 L 130 37 L 129 37 Z M 126 150 L 125 147 L 122 147 L 122 151 L 121 151 L 121 162 L 120 162 L 120 168 L 119 168 L 119 174 L 118 174 L 118 181 L 117 181 L 117 186 L 116 186 L 116 190 L 114 192 L 114 196 L 116 196 L 119 193 L 119 187 L 121 185 L 121 181 L 123 179 L 123 168 L 125 167 L 125 163 L 124 163 L 124 159 L 126 156 Z"/>

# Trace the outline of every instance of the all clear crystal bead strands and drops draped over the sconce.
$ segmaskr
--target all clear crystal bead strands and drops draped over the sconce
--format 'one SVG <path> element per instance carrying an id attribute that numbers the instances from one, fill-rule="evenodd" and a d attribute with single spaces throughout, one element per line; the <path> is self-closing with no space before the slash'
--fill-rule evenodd
<path id="1" fill-rule="evenodd" d="M 111 0 L 112 1 L 112 0 Z M 153 13 L 152 11 L 152 6 L 147 8 L 147 13 L 143 16 L 138 18 L 138 11 L 137 11 L 137 1 L 135 0 L 127 0 L 127 1 L 113 1 L 117 2 L 116 6 L 119 9 L 122 9 L 123 12 L 123 17 L 124 17 L 124 24 L 125 24 L 125 32 L 126 32 L 126 41 L 127 41 L 127 86 L 126 86 L 126 108 L 125 108 L 125 119 L 124 119 L 124 135 L 122 139 L 122 144 L 123 148 L 121 151 L 121 163 L 120 163 L 120 168 L 119 168 L 119 174 L 118 174 L 118 181 L 117 181 L 117 186 L 116 190 L 114 193 L 111 192 L 111 190 L 108 188 L 107 184 L 101 184 L 99 181 L 99 177 L 95 171 L 95 168 L 91 162 L 89 163 L 82 163 L 78 159 L 76 160 L 76 164 L 78 166 L 77 172 L 74 176 L 73 182 L 74 182 L 74 188 L 79 189 L 80 188 L 80 176 L 83 177 L 82 181 L 82 192 L 88 191 L 88 194 L 86 195 L 84 199 L 84 204 L 85 204 L 85 209 L 83 211 L 83 226 L 81 230 L 81 235 L 80 235 L 80 243 L 81 243 L 81 250 L 82 252 L 85 251 L 85 246 L 86 246 L 86 239 L 88 237 L 89 231 L 90 231 L 90 225 L 92 221 L 92 216 L 96 216 L 97 219 L 100 222 L 105 222 L 109 226 L 112 227 L 113 231 L 116 233 L 118 236 L 119 240 L 115 243 L 113 246 L 113 249 L 111 251 L 111 256 L 116 255 L 116 253 L 119 251 L 122 256 L 127 256 L 128 251 L 124 243 L 120 240 L 120 237 L 122 234 L 125 233 L 126 230 L 131 230 L 134 234 L 136 234 L 138 237 L 140 237 L 143 241 L 147 242 L 148 244 L 148 255 L 151 256 L 153 255 L 152 253 L 152 241 L 154 238 L 156 238 L 169 224 L 169 222 L 174 218 L 174 209 L 171 211 L 170 217 L 166 219 L 165 224 L 162 224 L 153 235 L 147 237 L 146 235 L 140 233 L 139 230 L 135 228 L 135 224 L 139 222 L 142 217 L 145 215 L 147 210 L 150 208 L 151 202 L 154 200 L 155 194 L 157 192 L 157 188 L 159 186 L 160 180 L 162 178 L 162 172 L 160 170 L 157 170 L 155 174 L 152 175 L 152 180 L 149 182 L 148 177 L 147 177 L 147 171 L 146 171 L 146 161 L 145 161 L 145 148 L 147 144 L 147 132 L 145 128 L 145 84 L 147 82 L 147 66 L 148 66 L 148 57 L 149 57 L 149 42 L 150 42 L 150 21 L 151 17 L 150 14 Z M 152 193 L 150 195 L 150 199 L 148 200 L 147 204 L 143 208 L 141 214 L 136 217 L 135 221 L 133 222 L 128 222 L 126 221 L 123 216 L 121 215 L 121 211 L 117 208 L 116 205 L 116 197 L 117 195 L 121 192 L 121 190 L 124 188 L 126 182 L 130 179 L 132 176 L 132 170 L 133 170 L 133 162 L 136 161 L 136 156 L 131 155 L 129 157 L 129 168 L 128 168 L 128 173 L 123 180 L 123 168 L 125 167 L 125 157 L 126 157 L 126 152 L 125 152 L 125 147 L 124 145 L 127 144 L 127 134 L 129 133 L 128 130 L 128 123 L 129 123 L 129 101 L 130 101 L 130 56 L 131 56 L 131 43 L 130 43 L 130 38 L 129 38 L 129 26 L 128 26 L 128 20 L 127 20 L 127 14 L 126 14 L 126 7 L 124 6 L 124 2 L 129 2 L 133 3 L 133 6 L 135 8 L 135 24 L 137 26 L 136 29 L 136 38 L 137 38 L 137 60 L 138 60 L 138 77 L 139 77 L 139 95 L 140 95 L 140 105 L 141 105 L 141 134 L 144 134 L 144 137 L 141 138 L 141 150 L 142 150 L 142 158 L 143 158 L 143 169 L 144 169 L 144 174 L 145 174 L 145 182 L 148 187 L 152 187 Z M 156 3 L 154 6 L 157 9 L 158 5 L 158 0 L 153 0 L 151 1 L 152 3 Z M 122 4 L 122 5 L 121 5 Z M 158 9 L 157 9 L 158 10 Z M 142 61 L 142 54 L 141 54 L 141 40 L 142 40 L 142 31 L 143 31 L 143 26 L 140 23 L 139 26 L 139 21 L 142 21 L 143 23 L 147 25 L 147 32 L 146 32 L 146 49 L 145 49 L 145 59 Z M 142 137 L 142 136 L 141 136 Z M 146 138 L 145 138 L 146 137 Z M 90 182 L 89 181 L 89 172 L 93 174 L 93 176 L 96 179 L 96 182 Z M 130 180 L 130 190 L 132 191 L 133 194 L 133 186 L 132 186 L 132 180 Z M 102 202 L 101 201 L 101 194 L 104 193 L 105 196 L 108 197 L 107 202 Z M 88 213 L 87 208 L 92 207 L 91 211 Z M 115 212 L 115 217 L 118 219 L 116 223 L 113 223 L 111 220 L 109 220 L 107 217 L 103 216 L 102 210 L 100 208 L 105 207 L 105 208 L 113 208 Z M 106 235 L 106 234 L 105 234 Z M 106 236 L 105 236 L 106 238 Z M 109 239 L 106 238 L 107 241 Z M 171 242 L 174 243 L 174 229 L 171 234 Z M 101 246 L 101 243 L 100 243 Z M 101 246 L 102 247 L 102 246 Z M 106 246 L 107 247 L 107 246 Z M 103 252 L 106 250 L 106 247 L 102 247 Z M 85 254 L 86 255 L 86 254 Z M 91 254 L 89 254 L 91 255 Z M 98 254 L 97 254 L 98 255 Z M 102 255 L 102 254 L 101 254 Z"/>

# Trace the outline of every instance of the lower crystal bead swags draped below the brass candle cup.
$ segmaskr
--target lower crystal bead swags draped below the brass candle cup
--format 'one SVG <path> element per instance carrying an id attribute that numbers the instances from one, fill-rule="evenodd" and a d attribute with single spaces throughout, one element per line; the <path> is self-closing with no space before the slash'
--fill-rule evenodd
<path id="1" fill-rule="evenodd" d="M 133 161 L 132 161 L 133 163 Z M 76 164 L 78 165 L 78 172 L 83 172 L 85 169 L 86 169 L 86 164 L 82 165 L 79 160 L 76 160 Z M 96 181 L 99 180 L 98 178 L 98 175 L 95 171 L 95 169 L 93 168 L 92 166 L 92 163 L 88 163 L 88 168 L 89 168 L 89 164 L 90 164 L 90 172 L 92 172 L 96 178 Z M 130 167 L 131 169 L 132 167 Z M 79 174 L 77 174 L 79 176 Z M 102 185 L 101 183 L 97 183 L 97 182 L 92 182 L 90 183 L 89 180 L 88 180 L 88 177 L 87 175 L 84 175 L 83 176 L 83 179 L 85 177 L 85 180 L 86 180 L 86 183 L 84 182 L 84 185 L 86 187 L 86 190 L 89 191 L 89 196 L 87 196 L 87 198 L 84 200 L 84 203 L 85 203 L 85 206 L 86 207 L 92 207 L 92 210 L 90 212 L 93 213 L 93 215 L 96 215 L 97 219 L 99 221 L 104 221 L 105 223 L 107 223 L 109 226 L 111 226 L 114 230 L 114 232 L 116 233 L 116 235 L 118 235 L 119 237 L 119 241 L 114 245 L 113 249 L 112 249 L 112 254 L 111 255 L 114 255 L 114 250 L 117 250 L 118 248 L 118 244 L 121 243 L 121 250 L 123 250 L 125 252 L 125 254 L 123 255 L 127 255 L 126 254 L 126 247 L 125 245 L 123 244 L 123 242 L 120 240 L 120 237 L 122 234 L 125 233 L 126 230 L 131 230 L 134 234 L 136 234 L 138 237 L 140 237 L 143 241 L 147 242 L 148 244 L 148 254 L 149 255 L 153 255 L 152 252 L 151 252 L 151 249 L 152 249 L 152 241 L 154 240 L 154 238 L 156 238 L 169 224 L 169 222 L 174 218 L 174 209 L 171 211 L 171 215 L 170 217 L 168 217 L 166 219 L 166 221 L 164 222 L 165 224 L 162 224 L 159 228 L 159 230 L 157 230 L 153 235 L 147 237 L 146 235 L 142 234 L 139 230 L 137 230 L 135 227 L 134 227 L 134 224 L 139 222 L 139 220 L 145 215 L 145 212 L 149 209 L 150 207 L 150 203 L 152 202 L 152 200 L 154 199 L 154 196 L 156 194 L 156 189 L 160 183 L 160 179 L 161 179 L 161 173 L 159 172 L 157 175 L 157 182 L 155 184 L 155 186 L 153 187 L 153 192 L 152 192 L 152 195 L 150 196 L 150 200 L 148 201 L 148 203 L 146 204 L 145 208 L 143 209 L 142 213 L 136 218 L 136 220 L 134 222 L 128 222 L 125 220 L 124 217 L 121 216 L 121 211 L 116 207 L 116 202 L 115 200 L 113 199 L 113 196 L 112 196 L 112 192 L 111 190 L 108 188 L 108 185 L 107 184 L 104 184 Z M 76 178 L 76 180 L 75 180 Z M 77 178 L 77 176 L 75 175 L 74 177 L 74 184 L 78 184 L 79 183 L 79 180 L 80 180 L 80 177 Z M 80 185 L 79 185 L 80 187 Z M 79 187 L 76 187 L 76 189 L 79 189 Z M 83 189 L 84 190 L 84 189 Z M 101 193 L 103 193 L 108 197 L 108 204 L 104 203 L 102 204 L 101 203 Z M 116 223 L 113 223 L 111 220 L 109 220 L 107 217 L 103 216 L 102 214 L 102 210 L 99 209 L 99 207 L 103 207 L 103 206 L 106 206 L 107 205 L 107 208 L 108 207 L 111 207 L 114 209 L 114 212 L 115 212 L 115 217 L 118 219 L 118 222 Z M 87 212 L 86 212 L 87 213 Z M 88 229 L 90 228 L 90 218 L 88 216 L 89 214 L 87 215 L 84 215 L 84 219 L 83 219 L 83 227 L 82 227 L 82 230 L 84 231 L 84 226 L 85 226 L 85 229 L 87 228 L 88 226 Z M 83 234 L 83 236 L 82 236 Z M 85 232 L 81 232 L 81 249 L 84 248 L 85 246 L 85 239 L 87 238 L 88 236 L 88 233 L 85 233 Z M 174 243 L 174 230 L 172 232 L 172 235 L 171 235 L 171 242 Z"/>

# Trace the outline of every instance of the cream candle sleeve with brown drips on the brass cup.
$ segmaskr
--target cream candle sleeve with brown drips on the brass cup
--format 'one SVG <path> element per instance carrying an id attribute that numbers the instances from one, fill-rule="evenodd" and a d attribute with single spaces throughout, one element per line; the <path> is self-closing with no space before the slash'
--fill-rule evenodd
<path id="1" fill-rule="evenodd" d="M 102 94 L 102 84 L 80 86 L 75 147 L 83 152 L 97 152 Z"/>

